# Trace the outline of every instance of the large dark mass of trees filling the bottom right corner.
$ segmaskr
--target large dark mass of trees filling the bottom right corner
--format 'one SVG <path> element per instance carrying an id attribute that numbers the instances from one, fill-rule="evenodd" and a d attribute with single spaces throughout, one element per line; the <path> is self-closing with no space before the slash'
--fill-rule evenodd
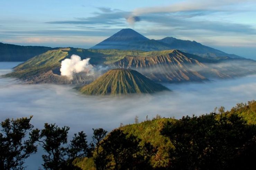
<path id="1" fill-rule="evenodd" d="M 237 114 L 183 117 L 165 124 L 170 138 L 169 169 L 249 169 L 256 155 L 256 127 Z"/>

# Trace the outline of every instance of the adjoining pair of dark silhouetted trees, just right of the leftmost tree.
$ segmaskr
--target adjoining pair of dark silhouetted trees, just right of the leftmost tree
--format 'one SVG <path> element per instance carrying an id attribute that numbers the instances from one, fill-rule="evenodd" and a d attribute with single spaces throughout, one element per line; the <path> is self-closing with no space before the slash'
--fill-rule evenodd
<path id="1" fill-rule="evenodd" d="M 45 124 L 40 133 L 40 143 L 47 154 L 42 156 L 43 167 L 47 170 L 80 169 L 72 162 L 76 158 L 86 157 L 88 144 L 86 134 L 79 132 L 75 134 L 70 144 L 67 144 L 69 127 L 58 127 L 55 124 Z"/>

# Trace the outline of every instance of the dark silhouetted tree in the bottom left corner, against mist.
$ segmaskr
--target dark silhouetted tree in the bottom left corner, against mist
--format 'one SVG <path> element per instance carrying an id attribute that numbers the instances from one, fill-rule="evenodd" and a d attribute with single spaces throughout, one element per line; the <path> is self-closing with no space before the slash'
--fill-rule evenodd
<path id="1" fill-rule="evenodd" d="M 36 153 L 35 142 L 39 137 L 39 130 L 33 130 L 30 118 L 6 119 L 1 122 L 0 133 L 0 169 L 22 170 L 26 158 Z M 28 137 L 27 134 L 29 133 Z"/>

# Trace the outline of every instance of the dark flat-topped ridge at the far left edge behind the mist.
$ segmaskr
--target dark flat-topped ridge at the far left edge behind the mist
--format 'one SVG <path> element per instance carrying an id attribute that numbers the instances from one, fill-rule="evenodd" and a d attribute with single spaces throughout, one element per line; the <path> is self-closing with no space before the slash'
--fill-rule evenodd
<path id="1" fill-rule="evenodd" d="M 53 50 L 53 48 L 43 46 L 18 46 L 0 42 L 0 62 L 27 61 L 28 59 L 48 50 Z"/>

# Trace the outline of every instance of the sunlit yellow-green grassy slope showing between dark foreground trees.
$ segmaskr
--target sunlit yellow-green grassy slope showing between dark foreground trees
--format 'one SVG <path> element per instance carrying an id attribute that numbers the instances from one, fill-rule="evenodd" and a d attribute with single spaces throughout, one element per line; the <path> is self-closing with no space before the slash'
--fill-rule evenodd
<path id="1" fill-rule="evenodd" d="M 237 104 L 236 107 L 224 114 L 238 114 L 242 116 L 249 124 L 256 124 L 256 101 L 248 104 Z M 162 118 L 152 121 L 144 121 L 138 124 L 129 124 L 120 127 L 125 133 L 134 134 L 141 139 L 141 142 L 150 142 L 154 147 L 158 147 L 156 156 L 151 160 L 154 167 L 164 167 L 168 163 L 168 149 L 172 147 L 170 140 L 160 134 L 163 125 L 167 121 L 176 121 L 175 119 Z M 83 170 L 94 170 L 92 158 L 76 160 L 75 164 Z"/>

